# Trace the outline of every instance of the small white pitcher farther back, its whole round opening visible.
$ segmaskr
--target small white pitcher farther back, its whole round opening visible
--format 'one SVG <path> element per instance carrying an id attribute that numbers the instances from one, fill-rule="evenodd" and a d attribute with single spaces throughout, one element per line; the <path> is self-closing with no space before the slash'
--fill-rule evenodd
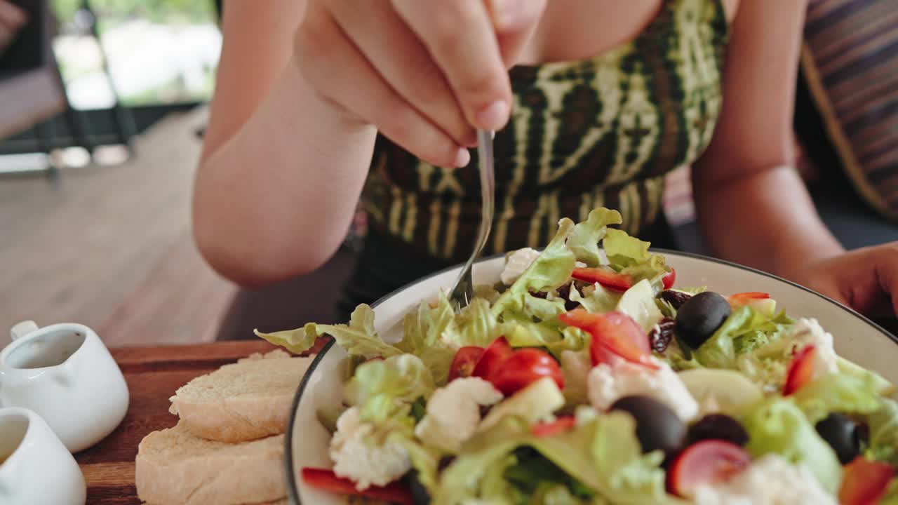
<path id="1" fill-rule="evenodd" d="M 99 442 L 128 411 L 128 385 L 100 337 L 84 324 L 10 330 L 0 351 L 0 406 L 37 412 L 72 453 Z"/>

